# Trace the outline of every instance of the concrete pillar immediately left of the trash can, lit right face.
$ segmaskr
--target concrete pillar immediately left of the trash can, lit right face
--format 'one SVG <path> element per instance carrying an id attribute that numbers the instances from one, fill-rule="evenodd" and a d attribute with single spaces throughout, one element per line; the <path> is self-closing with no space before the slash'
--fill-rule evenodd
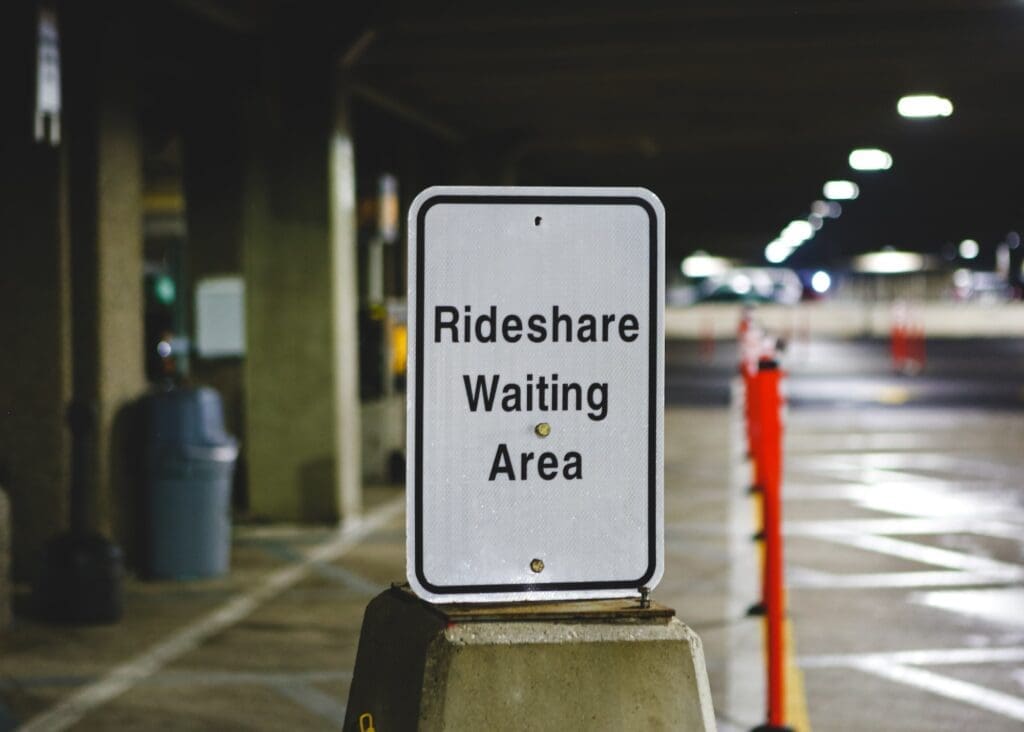
<path id="1" fill-rule="evenodd" d="M 127 4 L 68 6 L 62 27 L 70 154 L 74 401 L 83 435 L 82 524 L 124 541 L 138 485 L 130 405 L 143 364 L 142 167 L 134 69 L 136 24 Z"/>

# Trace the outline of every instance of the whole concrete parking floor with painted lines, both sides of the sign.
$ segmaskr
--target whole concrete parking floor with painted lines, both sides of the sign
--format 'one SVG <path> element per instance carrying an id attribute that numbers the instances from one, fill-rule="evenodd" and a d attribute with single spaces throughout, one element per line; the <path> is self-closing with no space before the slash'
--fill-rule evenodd
<path id="1" fill-rule="evenodd" d="M 666 420 L 667 571 L 720 729 L 763 721 L 756 518 L 735 413 Z M 795 658 L 816 730 L 1024 726 L 1024 417 L 846 404 L 788 416 Z M 127 586 L 117 626 L 18 617 L 0 729 L 337 729 L 362 609 L 403 578 L 399 487 L 368 521 L 240 526 L 228 578 Z"/>

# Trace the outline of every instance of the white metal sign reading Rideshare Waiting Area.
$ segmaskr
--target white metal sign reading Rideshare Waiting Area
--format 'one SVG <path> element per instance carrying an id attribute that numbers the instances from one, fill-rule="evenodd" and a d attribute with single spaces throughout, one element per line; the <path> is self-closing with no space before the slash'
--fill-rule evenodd
<path id="1" fill-rule="evenodd" d="M 653 588 L 665 561 L 658 199 L 432 187 L 409 232 L 414 591 L 457 603 Z"/>

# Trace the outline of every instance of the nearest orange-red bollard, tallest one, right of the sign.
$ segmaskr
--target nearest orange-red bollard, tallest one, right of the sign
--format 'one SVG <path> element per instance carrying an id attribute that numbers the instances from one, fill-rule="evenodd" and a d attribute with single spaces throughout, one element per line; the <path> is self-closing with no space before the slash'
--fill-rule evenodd
<path id="1" fill-rule="evenodd" d="M 767 722 L 763 732 L 781 731 L 785 726 L 785 591 L 782 553 L 782 373 L 771 358 L 762 359 L 755 377 L 758 422 L 758 455 L 761 468 L 764 512 L 765 569 L 764 606 L 768 646 Z"/>

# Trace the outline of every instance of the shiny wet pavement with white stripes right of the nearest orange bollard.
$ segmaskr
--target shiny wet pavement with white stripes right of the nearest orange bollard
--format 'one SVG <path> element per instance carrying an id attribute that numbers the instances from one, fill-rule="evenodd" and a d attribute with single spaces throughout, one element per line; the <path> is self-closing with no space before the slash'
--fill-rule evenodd
<path id="1" fill-rule="evenodd" d="M 787 426 L 814 727 L 1020 730 L 1024 419 L 846 406 L 795 408 Z"/>

